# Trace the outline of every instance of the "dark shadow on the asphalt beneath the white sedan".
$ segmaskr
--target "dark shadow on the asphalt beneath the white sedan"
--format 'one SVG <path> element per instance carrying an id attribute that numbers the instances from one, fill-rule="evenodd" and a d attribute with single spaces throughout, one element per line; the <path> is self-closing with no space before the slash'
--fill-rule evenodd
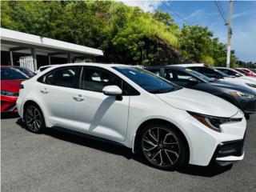
<path id="1" fill-rule="evenodd" d="M 22 126 L 23 129 L 26 129 L 26 126 L 22 122 L 21 118 L 18 118 L 18 121 L 16 123 L 19 126 Z M 127 148 L 126 146 L 117 145 L 117 143 L 114 144 L 113 142 L 106 142 L 106 141 L 104 142 L 95 138 L 90 138 L 89 135 L 82 136 L 80 134 L 79 135 L 70 134 L 69 132 L 56 130 L 56 129 L 46 129 L 44 134 L 53 138 L 61 139 L 66 142 L 72 142 L 76 145 L 90 147 L 95 150 L 102 150 L 110 154 L 122 155 L 127 159 L 133 159 L 147 166 L 151 166 L 148 162 L 144 160 L 144 158 L 141 157 L 141 155 L 139 155 L 138 153 L 133 154 L 129 148 Z M 215 175 L 222 174 L 223 172 L 226 172 L 227 170 L 230 170 L 230 169 L 231 169 L 231 166 L 222 167 L 222 166 L 216 166 L 216 165 L 211 165 L 211 166 L 187 165 L 187 166 L 178 168 L 178 170 L 162 170 L 162 171 L 178 171 L 181 174 L 190 174 L 190 175 L 197 175 L 202 177 L 214 177 Z"/>

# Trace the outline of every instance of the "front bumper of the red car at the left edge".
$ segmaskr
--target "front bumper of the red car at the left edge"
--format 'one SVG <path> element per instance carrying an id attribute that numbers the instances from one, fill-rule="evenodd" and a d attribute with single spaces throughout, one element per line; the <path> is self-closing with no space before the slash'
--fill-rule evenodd
<path id="1" fill-rule="evenodd" d="M 1 95 L 1 113 L 17 112 L 17 98 Z"/>

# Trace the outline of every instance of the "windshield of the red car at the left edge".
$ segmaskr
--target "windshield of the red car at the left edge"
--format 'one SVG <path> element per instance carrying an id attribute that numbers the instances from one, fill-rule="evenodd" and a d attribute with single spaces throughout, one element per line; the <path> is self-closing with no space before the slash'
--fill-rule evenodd
<path id="1" fill-rule="evenodd" d="M 1 68 L 1 79 L 2 80 L 11 80 L 11 79 L 28 79 L 29 77 L 26 74 L 23 74 L 22 71 L 14 68 Z"/>

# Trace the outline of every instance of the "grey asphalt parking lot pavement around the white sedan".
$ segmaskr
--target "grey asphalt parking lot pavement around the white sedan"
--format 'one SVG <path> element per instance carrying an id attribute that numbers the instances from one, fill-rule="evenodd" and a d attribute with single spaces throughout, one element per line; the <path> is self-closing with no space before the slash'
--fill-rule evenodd
<path id="1" fill-rule="evenodd" d="M 122 146 L 47 130 L 32 134 L 18 117 L 1 120 L 2 191 L 255 191 L 256 116 L 247 122 L 246 155 L 231 170 L 147 166 Z"/>

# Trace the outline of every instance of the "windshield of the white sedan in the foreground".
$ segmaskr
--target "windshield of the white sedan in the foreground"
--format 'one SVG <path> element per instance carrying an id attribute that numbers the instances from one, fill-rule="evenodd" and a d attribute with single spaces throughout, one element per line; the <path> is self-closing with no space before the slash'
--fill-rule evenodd
<path id="1" fill-rule="evenodd" d="M 182 88 L 138 67 L 115 66 L 113 68 L 152 94 L 167 93 Z"/>

